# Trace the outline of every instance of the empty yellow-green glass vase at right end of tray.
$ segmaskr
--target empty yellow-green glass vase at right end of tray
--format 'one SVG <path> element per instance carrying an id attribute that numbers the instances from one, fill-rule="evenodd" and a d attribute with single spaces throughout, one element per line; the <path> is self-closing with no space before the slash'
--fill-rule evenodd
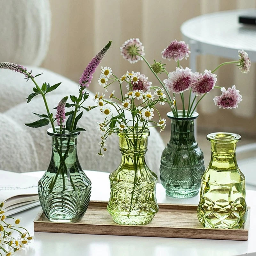
<path id="1" fill-rule="evenodd" d="M 247 215 L 245 178 L 236 163 L 240 135 L 216 132 L 207 135 L 212 156 L 205 170 L 197 208 L 205 228 L 241 228 Z"/>

